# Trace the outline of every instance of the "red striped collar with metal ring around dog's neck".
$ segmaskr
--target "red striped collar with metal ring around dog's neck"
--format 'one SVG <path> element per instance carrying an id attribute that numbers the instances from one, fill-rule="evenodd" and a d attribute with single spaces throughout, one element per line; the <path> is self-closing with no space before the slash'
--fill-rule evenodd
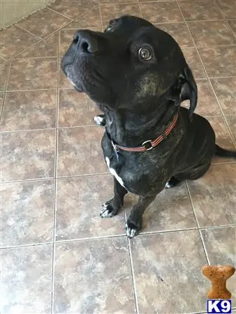
<path id="1" fill-rule="evenodd" d="M 121 145 L 117 145 L 112 141 L 113 149 L 115 150 L 116 153 L 117 151 L 119 151 L 119 149 L 123 151 L 149 151 L 153 149 L 154 147 L 156 147 L 159 143 L 161 143 L 164 140 L 164 138 L 170 134 L 171 130 L 175 127 L 177 119 L 178 119 L 178 114 L 175 114 L 175 117 L 172 120 L 171 124 L 168 126 L 168 128 L 165 129 L 163 134 L 159 135 L 156 138 L 156 140 L 147 140 L 142 143 L 142 146 L 139 146 L 139 147 L 124 147 Z"/>

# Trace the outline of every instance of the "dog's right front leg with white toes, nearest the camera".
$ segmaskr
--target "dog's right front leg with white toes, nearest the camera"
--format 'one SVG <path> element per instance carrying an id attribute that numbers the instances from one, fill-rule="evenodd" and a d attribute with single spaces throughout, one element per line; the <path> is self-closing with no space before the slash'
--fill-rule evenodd
<path id="1" fill-rule="evenodd" d="M 133 238 L 142 228 L 142 214 L 145 209 L 151 204 L 156 198 L 156 195 L 138 197 L 138 203 L 133 206 L 131 214 L 128 216 L 126 221 L 126 234 L 131 239 Z"/>

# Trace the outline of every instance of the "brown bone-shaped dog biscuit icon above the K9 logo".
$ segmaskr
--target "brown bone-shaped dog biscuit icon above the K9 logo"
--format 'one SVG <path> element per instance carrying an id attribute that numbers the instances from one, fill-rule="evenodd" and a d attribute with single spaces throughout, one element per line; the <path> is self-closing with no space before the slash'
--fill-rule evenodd
<path id="1" fill-rule="evenodd" d="M 212 289 L 207 293 L 208 299 L 230 299 L 231 293 L 226 289 L 226 281 L 235 273 L 235 267 L 225 266 L 202 266 L 202 274 L 212 281 Z"/>

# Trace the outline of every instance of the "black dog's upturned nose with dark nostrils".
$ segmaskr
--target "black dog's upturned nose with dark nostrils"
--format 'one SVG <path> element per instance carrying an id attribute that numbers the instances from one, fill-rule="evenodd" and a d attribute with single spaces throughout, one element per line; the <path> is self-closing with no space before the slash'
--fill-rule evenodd
<path id="1" fill-rule="evenodd" d="M 96 36 L 90 31 L 78 31 L 73 38 L 73 45 L 76 45 L 81 52 L 94 54 L 98 50 Z"/>

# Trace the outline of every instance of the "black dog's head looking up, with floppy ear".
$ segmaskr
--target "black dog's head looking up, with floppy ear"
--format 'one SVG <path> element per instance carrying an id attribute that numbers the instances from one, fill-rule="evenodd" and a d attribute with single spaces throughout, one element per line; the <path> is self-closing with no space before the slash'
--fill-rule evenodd
<path id="1" fill-rule="evenodd" d="M 196 107 L 196 82 L 179 45 L 139 17 L 112 20 L 104 33 L 78 31 L 61 68 L 75 89 L 110 110 L 142 112 L 163 98 L 190 99 L 190 115 Z"/>

